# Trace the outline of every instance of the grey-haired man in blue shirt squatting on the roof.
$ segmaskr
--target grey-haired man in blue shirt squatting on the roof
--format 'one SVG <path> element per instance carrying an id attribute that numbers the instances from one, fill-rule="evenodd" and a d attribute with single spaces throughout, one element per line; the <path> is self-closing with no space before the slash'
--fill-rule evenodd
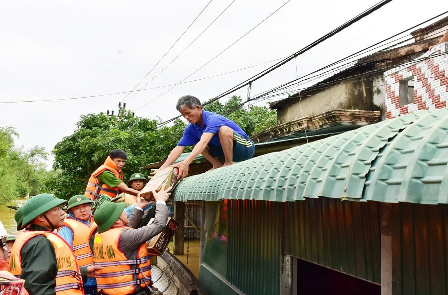
<path id="1" fill-rule="evenodd" d="M 179 168 L 178 178 L 188 175 L 188 166 L 199 154 L 212 164 L 212 169 L 231 165 L 232 162 L 244 161 L 252 157 L 255 150 L 253 142 L 232 120 L 202 108 L 201 102 L 194 96 L 179 98 L 176 109 L 190 123 L 177 147 L 168 155 L 160 168 L 169 165 Z M 174 164 L 186 146 L 195 146 L 183 161 Z M 223 158 L 222 164 L 217 158 Z"/>

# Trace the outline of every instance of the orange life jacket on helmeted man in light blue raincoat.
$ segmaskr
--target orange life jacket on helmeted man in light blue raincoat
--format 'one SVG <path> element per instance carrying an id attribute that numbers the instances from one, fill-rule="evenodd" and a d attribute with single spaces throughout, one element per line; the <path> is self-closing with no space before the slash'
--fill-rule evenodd
<path id="1" fill-rule="evenodd" d="M 64 225 L 73 232 L 72 250 L 75 253 L 76 261 L 79 266 L 93 265 L 93 253 L 89 246 L 89 238 L 97 231 L 97 224 L 90 218 L 90 227 L 71 217 L 64 220 Z M 58 229 L 58 232 L 61 228 Z"/>

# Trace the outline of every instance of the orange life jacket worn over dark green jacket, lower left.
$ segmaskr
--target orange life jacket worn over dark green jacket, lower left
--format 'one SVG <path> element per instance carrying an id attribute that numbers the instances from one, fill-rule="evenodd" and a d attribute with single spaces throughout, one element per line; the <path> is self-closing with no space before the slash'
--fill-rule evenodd
<path id="1" fill-rule="evenodd" d="M 24 231 L 17 235 L 14 245 L 12 245 L 11 258 L 9 260 L 11 273 L 16 277 L 20 277 L 22 273 L 20 252 L 29 239 L 38 235 L 44 235 L 53 245 L 56 253 L 58 263 L 56 295 L 84 295 L 83 280 L 72 248 L 63 238 L 49 231 Z"/>

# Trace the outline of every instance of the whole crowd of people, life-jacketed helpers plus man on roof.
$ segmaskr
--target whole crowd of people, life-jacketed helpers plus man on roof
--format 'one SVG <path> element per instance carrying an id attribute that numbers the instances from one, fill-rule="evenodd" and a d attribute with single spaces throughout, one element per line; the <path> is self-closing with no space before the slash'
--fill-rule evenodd
<path id="1" fill-rule="evenodd" d="M 213 164 L 212 169 L 253 155 L 254 144 L 244 131 L 203 110 L 196 97 L 181 97 L 176 108 L 190 124 L 161 168 L 178 167 L 180 180 L 199 154 Z M 174 163 L 186 146 L 194 146 L 193 151 Z M 141 198 L 148 179 L 134 173 L 127 181 L 130 187 L 126 185 L 122 171 L 126 160 L 125 151 L 114 149 L 91 174 L 84 194 L 67 202 L 41 193 L 16 211 L 20 232 L 16 237 L 0 233 L 0 268 L 25 280 L 23 294 L 160 294 L 152 286 L 146 242 L 165 229 L 171 188 L 153 191 L 155 201 Z"/>

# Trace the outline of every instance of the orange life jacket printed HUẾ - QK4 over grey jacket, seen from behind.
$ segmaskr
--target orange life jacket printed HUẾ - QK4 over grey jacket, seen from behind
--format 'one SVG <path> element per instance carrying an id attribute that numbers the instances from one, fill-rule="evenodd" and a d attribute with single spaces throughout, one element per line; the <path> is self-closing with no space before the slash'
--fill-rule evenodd
<path id="1" fill-rule="evenodd" d="M 146 243 L 138 248 L 137 257 L 132 260 L 118 249 L 120 234 L 126 228 L 130 227 L 112 227 L 102 234 L 95 234 L 94 262 L 96 266 L 104 267 L 99 271 L 97 288 L 105 294 L 132 294 L 135 286 L 145 288 L 151 283 L 151 262 Z"/>

